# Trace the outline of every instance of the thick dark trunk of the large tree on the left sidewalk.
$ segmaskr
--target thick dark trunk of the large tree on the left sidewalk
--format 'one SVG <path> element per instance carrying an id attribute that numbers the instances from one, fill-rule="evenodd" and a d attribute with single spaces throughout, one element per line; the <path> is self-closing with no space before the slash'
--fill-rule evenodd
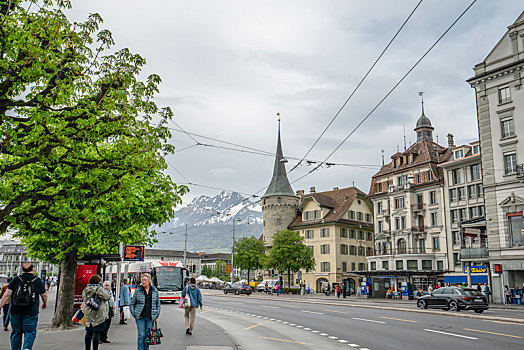
<path id="1" fill-rule="evenodd" d="M 53 328 L 68 329 L 73 327 L 73 306 L 75 298 L 76 250 L 68 253 L 60 262 L 60 285 L 56 301 Z"/>

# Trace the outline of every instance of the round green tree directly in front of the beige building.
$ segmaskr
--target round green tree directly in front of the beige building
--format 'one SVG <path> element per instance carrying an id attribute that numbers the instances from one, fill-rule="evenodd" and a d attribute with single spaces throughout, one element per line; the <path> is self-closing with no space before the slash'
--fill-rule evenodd
<path id="1" fill-rule="evenodd" d="M 315 268 L 313 251 L 304 245 L 304 238 L 295 231 L 282 231 L 273 236 L 273 247 L 267 256 L 266 265 L 287 272 L 291 284 L 291 272 Z"/>

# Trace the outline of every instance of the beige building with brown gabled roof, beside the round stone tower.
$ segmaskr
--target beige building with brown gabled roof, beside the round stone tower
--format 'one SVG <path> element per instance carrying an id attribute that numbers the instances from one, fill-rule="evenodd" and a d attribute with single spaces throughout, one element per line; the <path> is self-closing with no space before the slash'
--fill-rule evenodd
<path id="1" fill-rule="evenodd" d="M 348 278 L 353 291 L 358 285 L 354 271 L 366 269 L 366 256 L 373 253 L 373 206 L 355 187 L 309 194 L 298 191 L 298 215 L 289 225 L 313 250 L 314 271 L 302 272 L 306 286 L 317 292 L 321 284 L 341 283 Z"/>

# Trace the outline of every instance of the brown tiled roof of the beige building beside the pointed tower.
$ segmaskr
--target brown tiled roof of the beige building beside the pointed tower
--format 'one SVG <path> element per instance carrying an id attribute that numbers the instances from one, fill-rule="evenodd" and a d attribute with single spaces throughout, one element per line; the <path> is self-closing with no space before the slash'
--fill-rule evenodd
<path id="1" fill-rule="evenodd" d="M 344 214 L 348 212 L 349 207 L 351 207 L 351 204 L 353 204 L 357 197 L 360 197 L 359 199 L 361 200 L 367 201 L 366 194 L 356 187 L 347 187 L 338 190 L 306 194 L 302 197 L 299 208 L 302 207 L 302 204 L 306 200 L 313 199 L 321 206 L 330 208 L 330 211 L 323 218 L 318 220 L 308 220 L 307 222 L 302 221 L 302 215 L 299 213 L 295 220 L 289 225 L 289 228 L 293 229 L 301 226 L 314 226 L 333 222 L 349 225 L 362 225 L 362 227 L 373 228 L 371 223 L 343 218 Z"/>

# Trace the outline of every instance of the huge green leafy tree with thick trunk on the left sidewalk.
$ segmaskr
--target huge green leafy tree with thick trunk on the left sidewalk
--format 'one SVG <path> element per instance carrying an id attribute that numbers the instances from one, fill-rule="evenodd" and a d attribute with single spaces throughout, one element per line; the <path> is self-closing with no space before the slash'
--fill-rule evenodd
<path id="1" fill-rule="evenodd" d="M 97 14 L 24 5 L 0 0 L 0 232 L 60 264 L 53 326 L 67 328 L 77 260 L 153 243 L 187 188 L 165 174 L 172 112 L 154 102 L 160 77 L 139 80 L 145 60 Z"/>

